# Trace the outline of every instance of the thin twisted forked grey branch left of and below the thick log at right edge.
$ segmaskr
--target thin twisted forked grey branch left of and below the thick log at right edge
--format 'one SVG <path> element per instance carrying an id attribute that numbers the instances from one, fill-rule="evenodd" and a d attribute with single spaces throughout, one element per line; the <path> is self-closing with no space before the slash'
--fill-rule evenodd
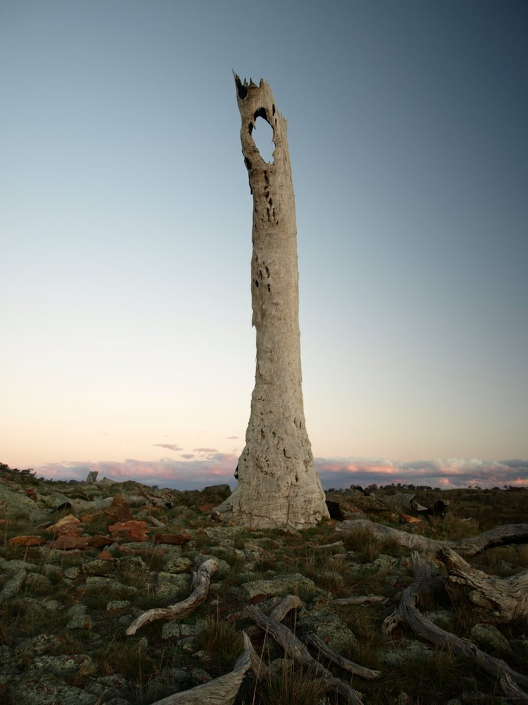
<path id="1" fill-rule="evenodd" d="M 507 674 L 516 683 L 520 683 L 524 686 L 528 685 L 527 675 L 517 673 L 517 671 L 510 668 L 501 658 L 489 656 L 489 654 L 481 651 L 481 649 L 471 642 L 466 642 L 454 634 L 451 634 L 451 632 L 446 632 L 440 627 L 437 627 L 425 615 L 420 613 L 417 609 L 420 593 L 428 589 L 433 589 L 434 583 L 439 576 L 432 575 L 429 572 L 427 563 L 425 563 L 425 560 L 420 558 L 415 551 L 413 551 L 411 555 L 411 562 L 415 573 L 415 582 L 406 587 L 396 611 L 384 621 L 382 625 L 384 633 L 390 634 L 394 627 L 405 623 L 421 639 L 426 639 L 428 642 L 436 644 L 436 646 L 447 647 L 458 656 L 470 658 L 476 666 L 482 668 L 486 673 L 493 675 L 494 678 L 500 679 L 504 674 Z"/>

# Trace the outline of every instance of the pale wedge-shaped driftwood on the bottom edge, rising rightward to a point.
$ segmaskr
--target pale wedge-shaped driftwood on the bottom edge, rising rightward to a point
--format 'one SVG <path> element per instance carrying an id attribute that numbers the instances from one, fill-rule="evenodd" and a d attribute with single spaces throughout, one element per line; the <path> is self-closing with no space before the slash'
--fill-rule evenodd
<path id="1" fill-rule="evenodd" d="M 156 700 L 152 705 L 232 705 L 244 675 L 250 667 L 249 649 L 245 649 L 230 673 L 221 675 L 220 678 L 210 680 L 208 683 L 196 685 L 190 690 Z"/>

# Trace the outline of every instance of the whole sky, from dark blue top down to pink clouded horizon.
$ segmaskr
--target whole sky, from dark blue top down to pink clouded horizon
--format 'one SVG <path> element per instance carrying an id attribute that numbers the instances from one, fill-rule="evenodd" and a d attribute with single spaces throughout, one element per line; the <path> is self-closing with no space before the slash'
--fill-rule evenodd
<path id="1" fill-rule="evenodd" d="M 234 484 L 236 71 L 288 120 L 323 486 L 528 486 L 527 35 L 523 0 L 0 0 L 1 462 Z"/>

